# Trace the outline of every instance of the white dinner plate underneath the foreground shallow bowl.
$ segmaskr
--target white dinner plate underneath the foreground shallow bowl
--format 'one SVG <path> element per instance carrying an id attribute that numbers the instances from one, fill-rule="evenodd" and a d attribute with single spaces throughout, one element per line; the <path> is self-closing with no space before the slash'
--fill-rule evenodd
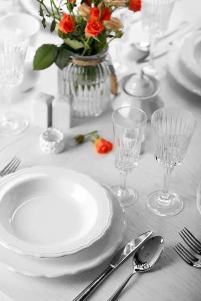
<path id="1" fill-rule="evenodd" d="M 0 245 L 0 265 L 27 276 L 59 277 L 74 275 L 91 269 L 109 258 L 121 243 L 126 231 L 126 214 L 114 195 L 107 190 L 114 207 L 114 219 L 107 234 L 90 248 L 60 258 L 34 258 L 23 256 Z"/>

